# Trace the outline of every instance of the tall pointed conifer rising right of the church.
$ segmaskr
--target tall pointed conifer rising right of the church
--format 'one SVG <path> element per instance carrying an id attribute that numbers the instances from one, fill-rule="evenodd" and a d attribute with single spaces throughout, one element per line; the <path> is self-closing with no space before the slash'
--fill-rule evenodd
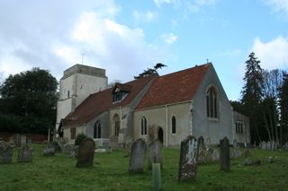
<path id="1" fill-rule="evenodd" d="M 246 61 L 245 85 L 241 91 L 243 107 L 250 117 L 251 142 L 260 142 L 263 135 L 263 120 L 261 115 L 261 100 L 263 98 L 263 69 L 255 53 L 252 52 Z"/>

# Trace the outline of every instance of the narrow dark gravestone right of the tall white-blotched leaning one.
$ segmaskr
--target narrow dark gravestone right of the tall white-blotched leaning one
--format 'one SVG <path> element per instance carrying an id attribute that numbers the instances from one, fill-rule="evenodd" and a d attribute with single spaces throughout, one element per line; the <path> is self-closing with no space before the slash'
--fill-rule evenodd
<path id="1" fill-rule="evenodd" d="M 225 136 L 220 140 L 220 169 L 229 171 L 230 169 L 230 156 L 229 156 L 229 139 Z"/>

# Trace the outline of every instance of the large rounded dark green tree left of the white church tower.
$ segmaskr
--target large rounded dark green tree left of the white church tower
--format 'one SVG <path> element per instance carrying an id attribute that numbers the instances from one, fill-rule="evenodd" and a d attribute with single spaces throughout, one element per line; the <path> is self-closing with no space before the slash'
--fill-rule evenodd
<path id="1" fill-rule="evenodd" d="M 57 88 L 56 78 L 39 68 L 10 75 L 0 87 L 0 131 L 46 133 L 53 128 Z"/>

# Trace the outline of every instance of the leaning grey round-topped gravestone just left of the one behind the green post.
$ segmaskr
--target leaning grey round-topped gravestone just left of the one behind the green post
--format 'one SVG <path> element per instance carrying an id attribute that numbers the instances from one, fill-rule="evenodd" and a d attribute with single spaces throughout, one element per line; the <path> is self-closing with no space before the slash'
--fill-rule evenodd
<path id="1" fill-rule="evenodd" d="M 129 173 L 143 172 L 146 143 L 143 139 L 138 139 L 132 143 L 129 162 Z"/>

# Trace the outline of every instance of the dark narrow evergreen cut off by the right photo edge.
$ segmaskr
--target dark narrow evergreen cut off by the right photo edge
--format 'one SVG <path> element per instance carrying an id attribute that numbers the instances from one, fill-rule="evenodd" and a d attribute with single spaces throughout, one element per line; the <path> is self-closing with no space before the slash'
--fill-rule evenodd
<path id="1" fill-rule="evenodd" d="M 283 85 L 280 88 L 280 112 L 281 112 L 281 126 L 280 126 L 280 143 L 288 142 L 288 74 L 284 73 Z"/>

